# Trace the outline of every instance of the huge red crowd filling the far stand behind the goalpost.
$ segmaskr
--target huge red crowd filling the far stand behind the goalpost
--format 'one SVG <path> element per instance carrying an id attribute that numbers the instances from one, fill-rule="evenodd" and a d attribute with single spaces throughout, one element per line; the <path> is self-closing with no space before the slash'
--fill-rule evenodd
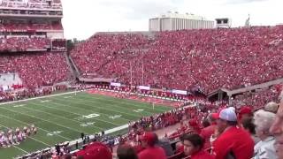
<path id="1" fill-rule="evenodd" d="M 201 87 L 209 93 L 282 78 L 282 30 L 282 26 L 181 30 L 157 33 L 154 38 L 95 34 L 78 44 L 71 57 L 81 73 L 133 85 Z"/>

